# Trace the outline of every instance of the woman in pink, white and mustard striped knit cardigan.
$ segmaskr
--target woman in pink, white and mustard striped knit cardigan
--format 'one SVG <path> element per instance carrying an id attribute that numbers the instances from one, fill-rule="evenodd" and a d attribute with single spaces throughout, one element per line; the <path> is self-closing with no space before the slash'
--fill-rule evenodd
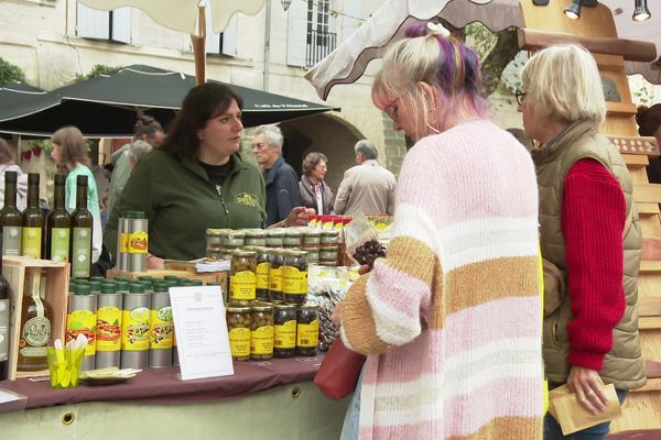
<path id="1" fill-rule="evenodd" d="M 375 105 L 415 142 L 388 256 L 334 311 L 345 345 L 367 354 L 342 438 L 541 440 L 530 154 L 486 119 L 473 50 L 433 23 L 405 36 L 372 86 Z"/>

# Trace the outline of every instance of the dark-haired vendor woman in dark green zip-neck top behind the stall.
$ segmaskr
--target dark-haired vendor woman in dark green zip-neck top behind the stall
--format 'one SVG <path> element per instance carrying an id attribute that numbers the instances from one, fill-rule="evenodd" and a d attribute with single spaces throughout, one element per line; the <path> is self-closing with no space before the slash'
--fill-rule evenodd
<path id="1" fill-rule="evenodd" d="M 207 228 L 264 227 L 261 170 L 239 152 L 242 103 L 223 85 L 191 89 L 167 138 L 133 169 L 110 213 L 104 243 L 113 255 L 123 211 L 147 213 L 150 268 L 204 256 Z M 294 208 L 278 226 L 304 223 L 306 215 Z"/>

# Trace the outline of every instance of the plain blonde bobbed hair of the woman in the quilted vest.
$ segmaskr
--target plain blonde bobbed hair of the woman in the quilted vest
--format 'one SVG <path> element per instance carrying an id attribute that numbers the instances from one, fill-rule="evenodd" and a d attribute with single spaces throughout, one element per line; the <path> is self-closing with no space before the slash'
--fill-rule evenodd
<path id="1" fill-rule="evenodd" d="M 597 125 L 606 120 L 599 69 L 582 46 L 559 44 L 535 53 L 521 70 L 521 82 L 525 100 L 545 108 L 554 119 L 589 120 Z"/>

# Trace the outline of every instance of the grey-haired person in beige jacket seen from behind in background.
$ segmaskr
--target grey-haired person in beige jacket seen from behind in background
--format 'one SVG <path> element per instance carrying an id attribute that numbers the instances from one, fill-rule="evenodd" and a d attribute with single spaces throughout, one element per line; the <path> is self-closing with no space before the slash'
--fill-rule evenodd
<path id="1" fill-rule="evenodd" d="M 335 213 L 394 213 L 394 175 L 379 165 L 379 152 L 368 140 L 354 146 L 356 163 L 345 172 L 335 197 Z"/>

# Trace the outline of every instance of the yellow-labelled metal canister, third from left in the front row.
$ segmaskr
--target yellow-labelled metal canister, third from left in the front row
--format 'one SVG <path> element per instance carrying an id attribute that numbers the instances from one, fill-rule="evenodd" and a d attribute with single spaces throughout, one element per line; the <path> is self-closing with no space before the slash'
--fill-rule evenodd
<path id="1" fill-rule="evenodd" d="M 140 283 L 129 284 L 121 316 L 121 367 L 147 369 L 149 364 L 149 312 L 151 294 Z"/>

